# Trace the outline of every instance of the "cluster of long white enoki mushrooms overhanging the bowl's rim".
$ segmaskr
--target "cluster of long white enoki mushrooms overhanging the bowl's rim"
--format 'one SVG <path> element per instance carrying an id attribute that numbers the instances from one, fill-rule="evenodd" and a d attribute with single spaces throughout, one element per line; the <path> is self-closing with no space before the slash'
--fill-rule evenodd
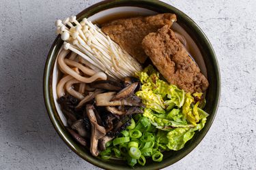
<path id="1" fill-rule="evenodd" d="M 104 71 L 115 80 L 141 71 L 141 65 L 130 54 L 87 18 L 78 22 L 76 16 L 71 16 L 57 20 L 55 26 L 64 41 L 63 48 L 79 54 L 91 69 Z"/>

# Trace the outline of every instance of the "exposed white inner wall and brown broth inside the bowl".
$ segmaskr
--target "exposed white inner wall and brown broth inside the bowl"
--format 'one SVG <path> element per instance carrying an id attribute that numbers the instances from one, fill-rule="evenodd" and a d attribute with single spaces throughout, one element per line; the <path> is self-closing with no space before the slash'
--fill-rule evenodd
<path id="1" fill-rule="evenodd" d="M 109 20 L 114 20 L 118 18 L 124 18 L 124 17 L 132 17 L 132 16 L 150 16 L 158 14 L 157 12 L 154 12 L 152 10 L 147 10 L 143 7 L 113 7 L 108 10 L 103 10 L 101 12 L 98 12 L 92 16 L 88 17 L 88 20 L 90 20 L 93 23 L 105 23 Z M 195 44 L 195 41 L 190 37 L 190 35 L 180 26 L 180 24 L 173 23 L 173 26 L 171 27 L 173 31 L 180 33 L 184 35 L 186 42 L 188 44 L 188 51 L 195 59 L 197 65 L 199 65 L 201 71 L 203 74 L 207 77 L 207 70 L 205 67 L 205 63 L 203 61 L 203 56 L 201 55 L 201 52 Z M 60 50 L 59 50 L 60 51 Z M 59 114 L 59 117 L 61 118 L 61 122 L 66 126 L 67 120 L 63 113 L 61 112 L 61 109 L 59 107 L 59 104 L 57 103 L 57 82 L 59 81 L 59 69 L 57 65 L 57 60 L 55 61 L 55 65 L 53 68 L 53 84 L 52 84 L 52 90 L 53 90 L 53 99 L 55 102 L 55 106 L 57 109 L 57 113 Z"/>

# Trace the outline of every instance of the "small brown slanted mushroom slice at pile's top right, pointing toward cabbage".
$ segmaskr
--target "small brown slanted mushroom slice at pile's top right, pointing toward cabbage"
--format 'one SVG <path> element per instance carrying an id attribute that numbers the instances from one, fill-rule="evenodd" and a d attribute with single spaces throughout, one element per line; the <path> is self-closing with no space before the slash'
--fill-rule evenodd
<path id="1" fill-rule="evenodd" d="M 132 95 L 138 85 L 139 85 L 139 82 L 134 82 L 128 85 L 126 88 L 123 88 L 121 91 L 117 92 L 117 95 L 115 95 L 115 97 L 113 97 L 111 101 L 121 100 Z"/>

